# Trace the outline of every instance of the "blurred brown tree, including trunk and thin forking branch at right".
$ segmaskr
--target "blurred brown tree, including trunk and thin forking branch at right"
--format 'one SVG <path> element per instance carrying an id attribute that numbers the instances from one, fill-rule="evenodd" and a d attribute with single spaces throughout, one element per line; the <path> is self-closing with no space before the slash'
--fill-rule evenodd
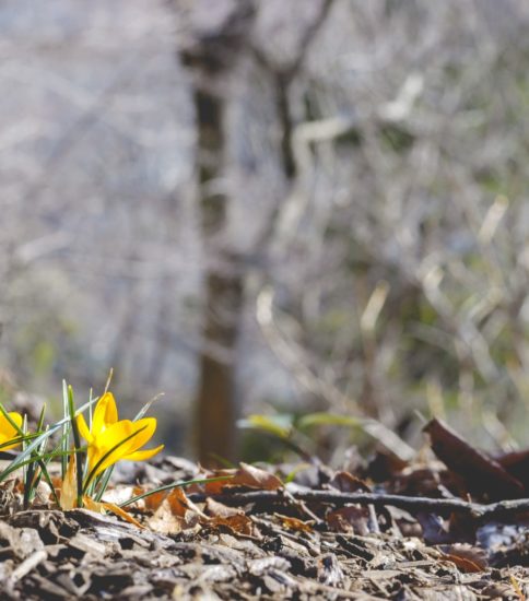
<path id="1" fill-rule="evenodd" d="M 250 70 L 239 69 L 242 56 L 251 57 L 270 87 L 279 131 L 280 170 L 292 188 L 296 175 L 293 150 L 294 118 L 291 89 L 308 48 L 325 22 L 333 0 L 319 0 L 308 19 L 295 27 L 294 47 L 277 61 L 262 44 L 254 40 L 252 25 L 267 9 L 247 0 L 203 0 L 189 4 L 176 2 L 180 37 L 179 55 L 192 78 L 197 127 L 197 176 L 205 252 L 203 341 L 200 381 L 196 403 L 196 436 L 202 462 L 212 455 L 232 458 L 235 450 L 235 355 L 237 333 L 244 309 L 245 259 L 236 250 L 237 240 L 226 236 L 231 200 L 223 178 L 228 165 L 227 106 L 242 87 L 240 78 Z M 302 8 L 301 4 L 298 8 Z M 278 14 L 272 7 L 272 14 Z M 289 13 L 290 14 L 290 13 Z M 292 25 L 292 22 L 291 22 Z M 266 40 L 268 44 L 268 40 Z M 233 160 L 233 156 L 230 158 Z M 230 165 L 233 168 L 233 165 Z M 283 188 L 285 189 L 285 188 Z M 251 254 L 267 255 L 275 241 L 284 198 L 274 199 Z"/>

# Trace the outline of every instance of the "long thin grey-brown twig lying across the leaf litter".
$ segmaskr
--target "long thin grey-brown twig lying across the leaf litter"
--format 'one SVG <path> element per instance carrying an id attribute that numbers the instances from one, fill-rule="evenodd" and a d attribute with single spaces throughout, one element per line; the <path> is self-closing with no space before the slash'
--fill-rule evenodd
<path id="1" fill-rule="evenodd" d="M 251 491 L 248 493 L 233 493 L 221 495 L 208 495 L 195 493 L 189 499 L 195 503 L 211 497 L 226 505 L 244 505 L 247 503 L 274 503 L 291 499 L 297 502 L 329 503 L 332 505 L 373 505 L 374 507 L 386 507 L 388 505 L 405 509 L 408 511 L 431 511 L 431 512 L 461 512 L 468 514 L 475 519 L 505 518 L 529 511 L 529 498 L 501 500 L 498 503 L 481 504 L 469 503 L 458 498 L 425 498 L 409 497 L 402 495 L 389 495 L 384 493 L 341 493 L 339 491 L 306 491 L 297 493 L 275 491 Z"/>

